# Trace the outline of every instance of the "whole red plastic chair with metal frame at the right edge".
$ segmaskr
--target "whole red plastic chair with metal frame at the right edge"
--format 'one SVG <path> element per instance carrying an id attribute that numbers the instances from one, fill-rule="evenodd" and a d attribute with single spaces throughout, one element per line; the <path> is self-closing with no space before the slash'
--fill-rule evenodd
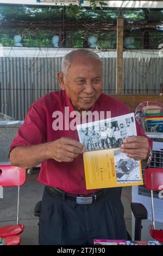
<path id="1" fill-rule="evenodd" d="M 152 224 L 149 228 L 151 236 L 163 242 L 163 230 L 155 229 L 154 221 L 154 204 L 153 204 L 153 190 L 163 190 L 163 168 L 147 168 L 145 170 L 145 187 L 151 190 L 151 205 L 152 205 Z M 162 213 L 163 214 L 163 213 Z"/>

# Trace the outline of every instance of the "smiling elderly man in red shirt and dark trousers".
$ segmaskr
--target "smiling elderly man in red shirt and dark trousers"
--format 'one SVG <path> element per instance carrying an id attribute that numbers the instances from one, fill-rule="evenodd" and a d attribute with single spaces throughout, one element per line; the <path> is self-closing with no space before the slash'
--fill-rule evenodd
<path id="1" fill-rule="evenodd" d="M 61 90 L 49 93 L 30 107 L 11 144 L 10 161 L 29 168 L 41 164 L 38 181 L 45 184 L 39 225 L 40 245 L 86 245 L 93 239 L 127 239 L 121 188 L 86 190 L 83 151 L 77 130 L 53 129 L 55 111 L 111 111 L 111 117 L 129 113 L 128 107 L 102 93 L 103 69 L 97 54 L 72 51 L 62 59 Z M 67 109 L 67 108 L 66 108 Z M 58 113 L 58 112 L 57 112 Z M 136 124 L 139 136 L 126 138 L 122 152 L 148 161 L 149 141 Z M 91 198 L 91 200 L 90 200 Z"/>

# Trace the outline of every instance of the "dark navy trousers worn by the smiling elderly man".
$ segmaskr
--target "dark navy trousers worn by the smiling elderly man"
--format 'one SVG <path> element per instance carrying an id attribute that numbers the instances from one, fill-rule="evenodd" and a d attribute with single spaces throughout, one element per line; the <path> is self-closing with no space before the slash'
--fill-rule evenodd
<path id="1" fill-rule="evenodd" d="M 92 245 L 93 239 L 127 239 L 121 188 L 110 188 L 92 204 L 76 204 L 44 190 L 40 245 Z"/>

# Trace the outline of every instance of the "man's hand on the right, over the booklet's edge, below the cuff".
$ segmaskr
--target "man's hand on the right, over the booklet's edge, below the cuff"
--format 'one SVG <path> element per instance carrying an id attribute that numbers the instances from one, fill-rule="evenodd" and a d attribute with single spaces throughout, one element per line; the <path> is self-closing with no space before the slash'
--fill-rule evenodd
<path id="1" fill-rule="evenodd" d="M 135 160 L 146 160 L 149 155 L 149 141 L 145 136 L 133 136 L 123 139 L 121 151 Z"/>

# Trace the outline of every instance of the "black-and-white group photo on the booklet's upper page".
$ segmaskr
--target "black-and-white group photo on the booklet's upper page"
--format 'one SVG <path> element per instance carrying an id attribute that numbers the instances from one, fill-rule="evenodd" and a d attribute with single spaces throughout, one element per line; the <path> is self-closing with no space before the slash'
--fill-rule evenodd
<path id="1" fill-rule="evenodd" d="M 129 115 L 129 114 L 128 114 Z M 78 126 L 80 142 L 85 150 L 120 148 L 123 139 L 136 135 L 134 117 L 111 118 Z"/>

